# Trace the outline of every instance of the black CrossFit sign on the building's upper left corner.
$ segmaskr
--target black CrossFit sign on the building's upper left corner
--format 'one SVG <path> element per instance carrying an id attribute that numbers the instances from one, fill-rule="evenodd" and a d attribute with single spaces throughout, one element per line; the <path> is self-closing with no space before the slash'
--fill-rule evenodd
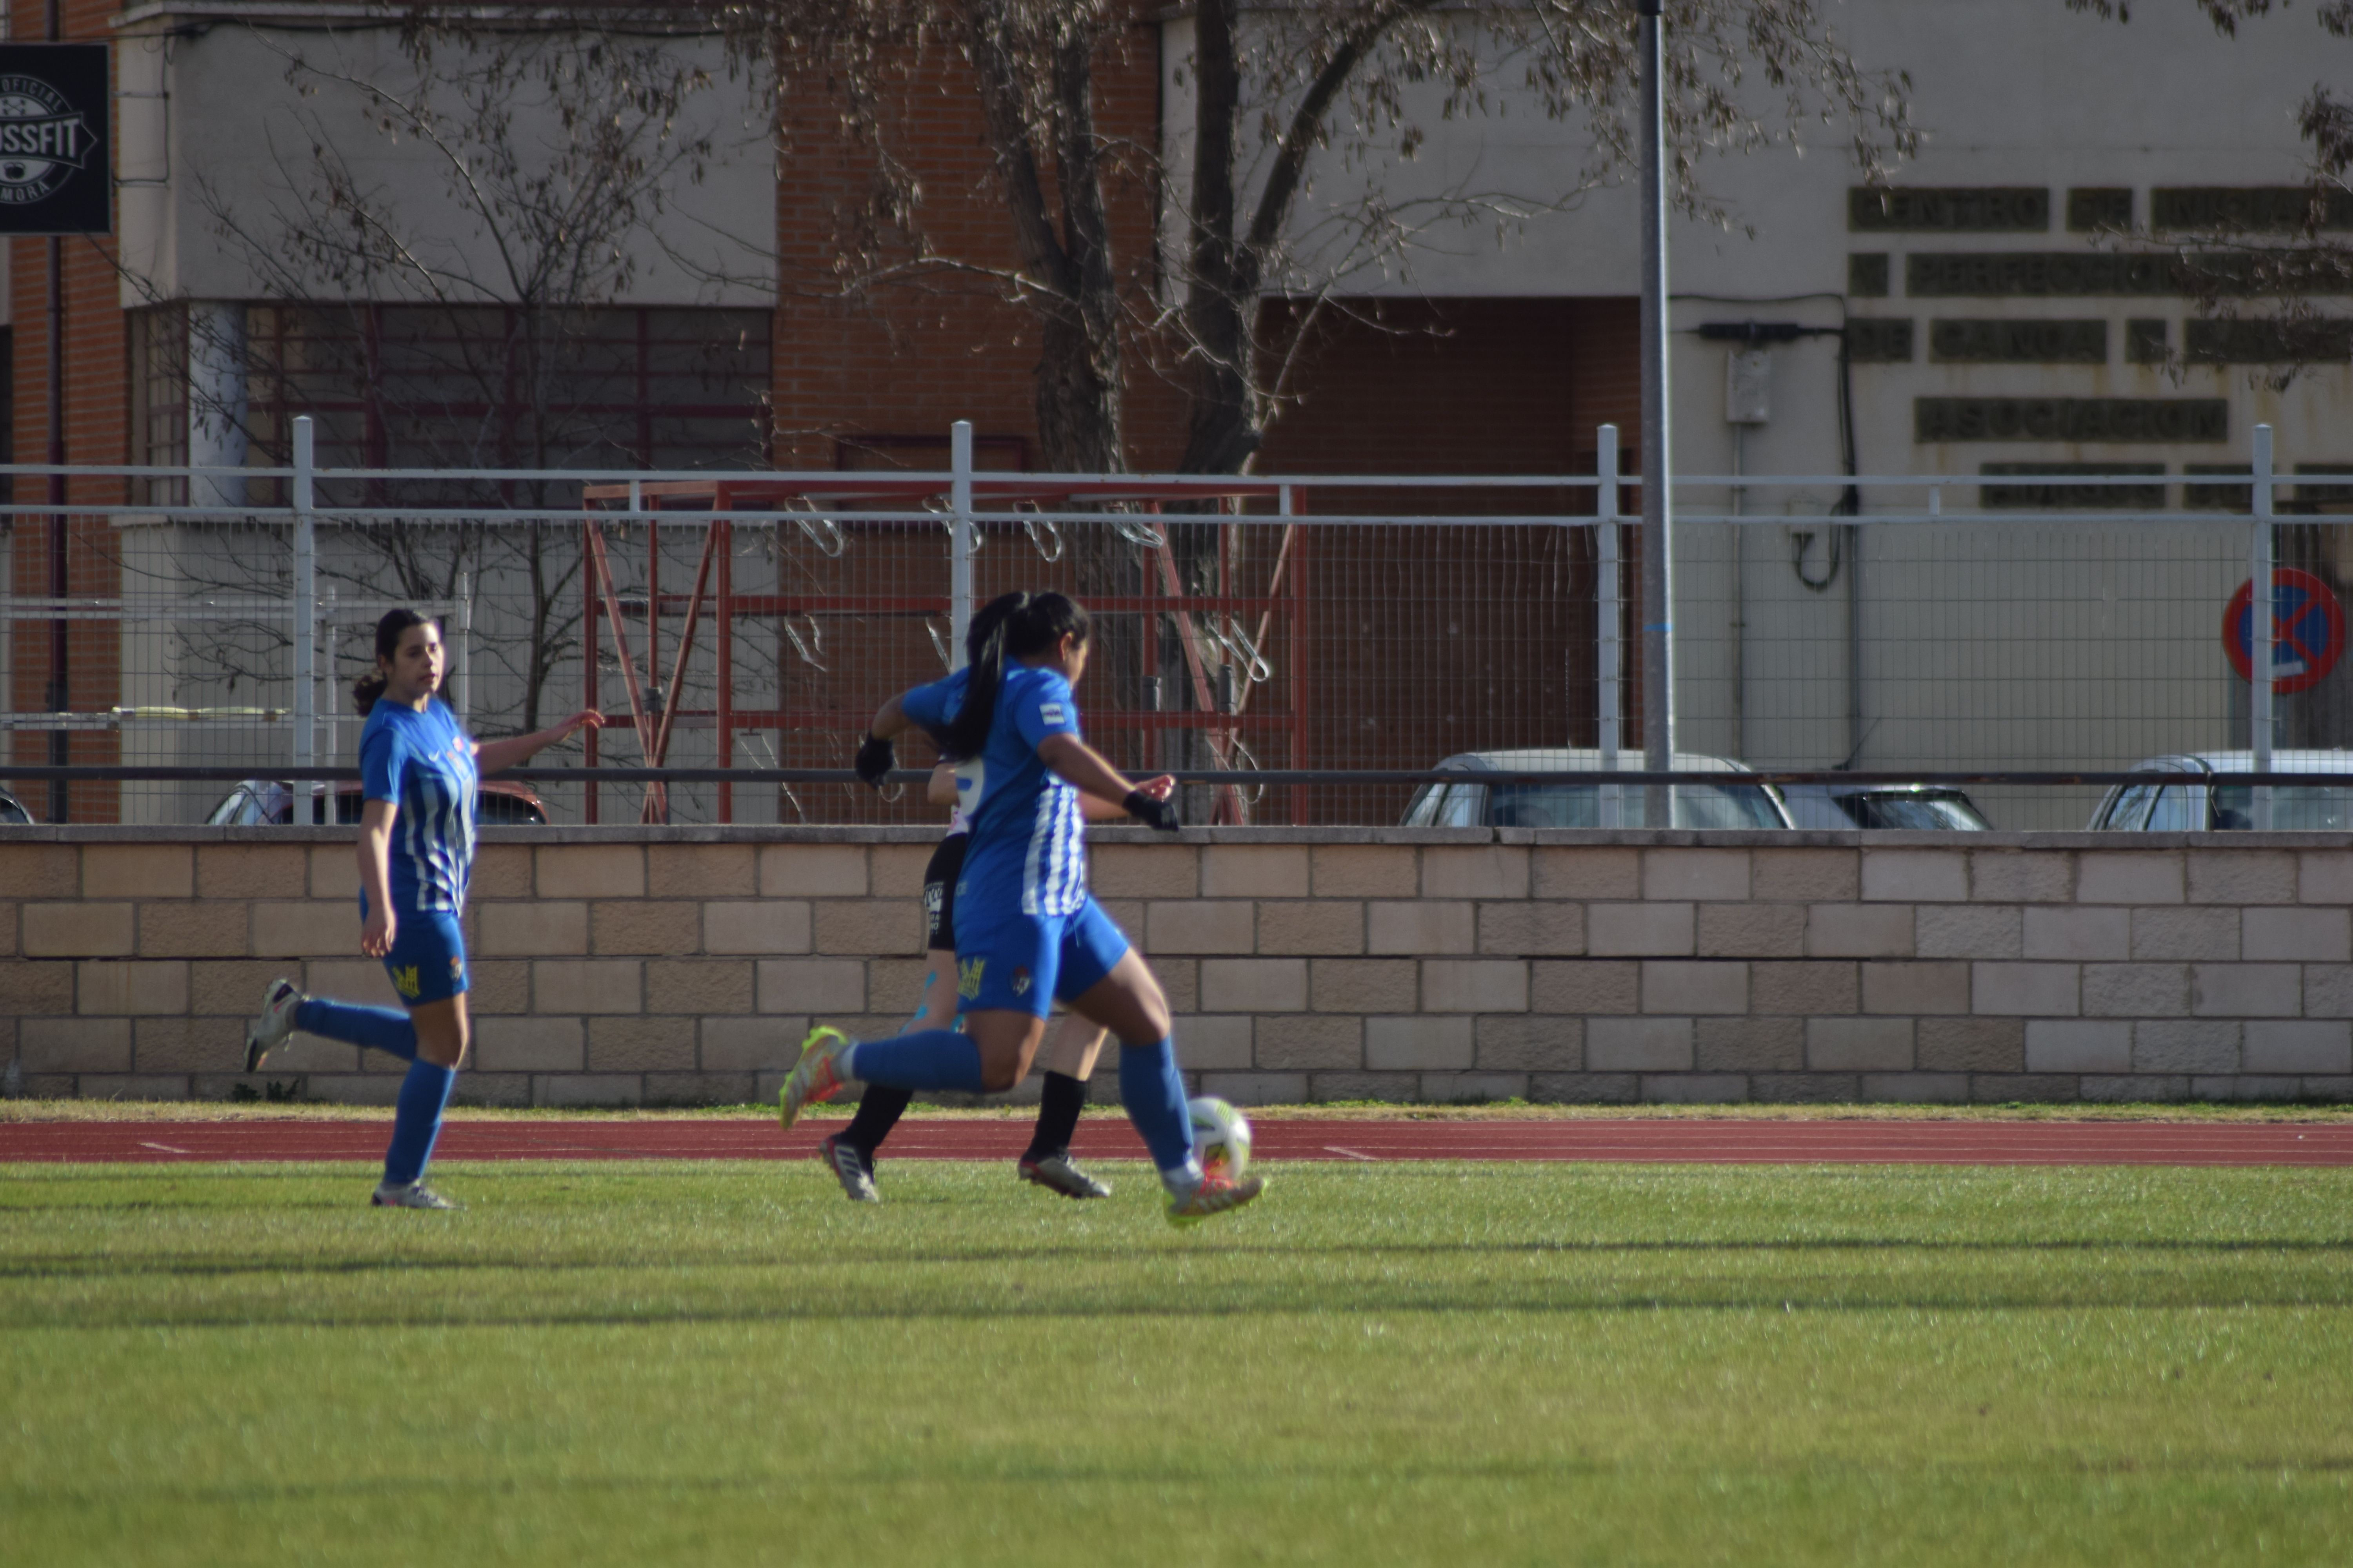
<path id="1" fill-rule="evenodd" d="M 0 235 L 111 235 L 106 45 L 0 45 Z"/>

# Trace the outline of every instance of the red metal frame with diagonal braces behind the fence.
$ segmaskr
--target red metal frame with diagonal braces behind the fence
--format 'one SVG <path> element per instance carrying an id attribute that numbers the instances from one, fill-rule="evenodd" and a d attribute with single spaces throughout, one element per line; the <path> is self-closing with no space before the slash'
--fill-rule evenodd
<path id="1" fill-rule="evenodd" d="M 661 588 L 661 559 L 654 545 L 654 529 L 647 529 L 647 564 L 645 564 L 645 595 L 631 597 L 628 602 L 614 588 L 609 548 L 605 541 L 605 520 L 642 520 L 652 512 L 793 512 L 798 508 L 816 505 L 828 512 L 835 524 L 856 522 L 856 512 L 842 512 L 845 505 L 880 505 L 889 510 L 915 510 L 941 494 L 939 480 L 904 480 L 894 475 L 875 473 L 838 473 L 838 475 L 795 475 L 788 480 L 736 480 L 736 477 L 711 477 L 711 480 L 664 480 L 656 484 L 591 484 L 584 491 L 586 517 L 581 520 L 581 543 L 586 571 L 581 574 L 584 592 L 584 616 L 581 616 L 581 656 L 584 656 L 584 701 L 588 708 L 600 708 L 600 621 L 602 630 L 612 632 L 614 651 L 621 663 L 621 679 L 628 693 L 628 712 L 633 729 L 638 733 L 640 757 L 647 766 L 661 766 L 668 757 L 671 733 L 678 729 L 718 729 L 718 764 L 722 769 L 734 766 L 734 738 L 739 731 L 793 731 L 793 729 L 840 729 L 842 715 L 831 710 L 788 710 L 788 708 L 736 708 L 734 705 L 734 625 L 744 616 L 800 616 L 812 611 L 849 611 L 849 614 L 882 614 L 882 616 L 944 616 L 951 611 L 948 595 L 821 595 L 821 592 L 758 592 L 736 595 L 734 592 L 734 522 L 729 517 L 711 517 L 704 534 L 701 564 L 694 574 L 692 592 L 664 592 Z M 976 473 L 972 475 L 972 503 L 981 512 L 1007 512 L 1021 505 L 1035 505 L 1042 510 L 1071 510 L 1073 505 L 1087 503 L 1141 503 L 1148 512 L 1160 512 L 1165 505 L 1176 501 L 1217 501 L 1221 510 L 1231 512 L 1247 501 L 1275 501 L 1285 517 L 1299 510 L 1299 487 L 1278 484 L 1271 480 L 1219 480 L 1212 484 L 1167 484 L 1151 480 L 1056 480 L 1052 475 L 1028 475 L 1028 473 Z M 628 512 L 616 512 L 614 503 L 628 505 Z M 1308 538 L 1297 524 L 1282 527 L 1282 545 L 1275 555 L 1275 569 L 1266 583 L 1266 592 L 1235 592 L 1233 574 L 1233 529 L 1219 529 L 1219 578 L 1214 595 L 1186 595 L 1184 583 L 1176 574 L 1174 552 L 1162 543 L 1151 552 L 1158 559 L 1158 571 L 1146 569 L 1141 595 L 1104 595 L 1089 597 L 1089 609 L 1096 611 L 1129 611 L 1129 614 L 1172 614 L 1176 618 L 1176 635 L 1186 656 L 1186 675 L 1193 684 L 1193 698 L 1198 703 L 1191 712 L 1125 712 L 1108 710 L 1089 715 L 1089 724 L 1101 731 L 1160 731 L 1160 729 L 1198 729 L 1207 733 L 1209 752 L 1217 757 L 1219 766 L 1233 764 L 1233 743 L 1245 733 L 1280 733 L 1289 731 L 1289 766 L 1306 766 L 1306 703 L 1308 703 L 1308 656 L 1306 656 L 1306 632 L 1308 632 Z M 713 576 L 718 578 L 713 588 Z M 718 698 L 715 708 L 680 708 L 675 693 L 680 679 L 687 670 L 687 658 L 694 651 L 694 639 L 701 621 L 711 616 L 713 651 L 718 658 Z M 661 668 L 661 621 L 666 616 L 682 616 L 685 623 L 678 632 L 678 646 L 671 658 L 671 679 L 661 689 L 659 712 L 652 708 L 645 679 L 638 672 L 628 644 L 626 621 L 640 618 L 645 623 L 645 672 L 652 675 Z M 1249 705 L 1249 682 L 1235 693 L 1233 712 L 1221 712 L 1217 703 L 1217 691 L 1212 689 L 1207 658 L 1202 656 L 1205 628 L 1200 618 L 1205 616 L 1228 616 L 1240 621 L 1242 616 L 1257 616 L 1257 642 L 1254 646 L 1268 646 L 1268 635 L 1275 621 L 1289 623 L 1289 705 L 1287 715 L 1252 715 Z M 588 766 L 598 764 L 598 733 L 588 731 Z M 586 820 L 598 820 L 598 788 L 588 788 Z M 1292 790 L 1292 813 L 1294 820 L 1304 820 L 1306 792 Z M 722 823 L 734 820 L 734 788 L 718 788 L 718 818 Z M 661 785 L 647 785 L 645 802 L 640 806 L 640 820 L 661 823 L 668 820 L 668 797 Z M 1217 799 L 1214 820 L 1240 823 L 1247 820 L 1247 806 L 1235 788 L 1221 788 Z"/>

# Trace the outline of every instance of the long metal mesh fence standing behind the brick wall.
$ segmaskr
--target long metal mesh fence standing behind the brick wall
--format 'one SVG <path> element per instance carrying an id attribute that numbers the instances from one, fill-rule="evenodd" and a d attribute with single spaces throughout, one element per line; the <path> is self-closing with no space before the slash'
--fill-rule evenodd
<path id="1" fill-rule="evenodd" d="M 478 733 L 614 715 L 548 762 L 838 769 L 885 696 L 951 665 L 974 602 L 1061 588 L 1099 621 L 1089 738 L 1132 771 L 1638 766 L 1635 480 L 1614 430 L 1595 447 L 1591 475 L 1221 480 L 988 473 L 969 442 L 936 475 L 329 470 L 296 444 L 294 468 L 66 470 L 64 512 L 38 498 L 56 470 L 19 465 L 0 724 L 19 766 L 348 764 L 374 618 L 424 604 Z M 2021 468 L 1678 477 L 1678 750 L 1887 773 L 2353 743 L 2353 475 L 2268 482 L 2268 430 L 2261 473 Z M 158 477 L 191 503 L 127 501 Z M 2282 599 L 2245 616 L 2247 658 L 2278 628 L 2273 682 L 2226 649 L 2261 576 Z M 553 820 L 939 816 L 840 783 L 534 788 Z M 233 788 L 19 792 L 176 823 Z M 1200 783 L 1186 811 L 1395 823 L 1412 792 Z M 2002 827 L 2078 827 L 2099 790 L 1974 795 Z"/>

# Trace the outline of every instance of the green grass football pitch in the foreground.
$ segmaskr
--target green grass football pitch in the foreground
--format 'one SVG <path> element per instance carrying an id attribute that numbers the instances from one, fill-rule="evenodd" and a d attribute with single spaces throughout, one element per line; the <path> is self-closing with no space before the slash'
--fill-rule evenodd
<path id="1" fill-rule="evenodd" d="M 7 1563 L 2329 1563 L 2353 1173 L 0 1166 Z"/>

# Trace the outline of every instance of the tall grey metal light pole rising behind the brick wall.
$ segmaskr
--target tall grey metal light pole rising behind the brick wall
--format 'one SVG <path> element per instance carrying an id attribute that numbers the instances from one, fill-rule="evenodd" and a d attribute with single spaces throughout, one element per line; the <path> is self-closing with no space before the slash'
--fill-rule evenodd
<path id="1" fill-rule="evenodd" d="M 1635 0 L 1642 49 L 1642 766 L 1675 766 L 1675 545 L 1666 428 L 1664 0 Z M 1673 827 L 1673 792 L 1642 792 L 1642 825 Z"/>

